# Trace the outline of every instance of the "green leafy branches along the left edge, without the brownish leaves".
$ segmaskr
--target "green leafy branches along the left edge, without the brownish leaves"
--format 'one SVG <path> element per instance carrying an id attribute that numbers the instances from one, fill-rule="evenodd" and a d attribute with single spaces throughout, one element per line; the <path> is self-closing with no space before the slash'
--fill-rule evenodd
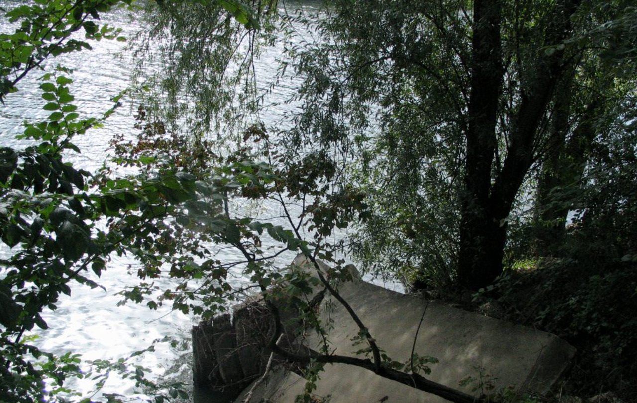
<path id="1" fill-rule="evenodd" d="M 124 40 L 117 29 L 99 24 L 99 13 L 115 6 L 131 2 L 36 1 L 6 14 L 15 32 L 0 36 L 0 100 L 4 108 L 11 108 L 20 81 L 47 68 L 39 78 L 39 89 L 41 109 L 50 114 L 39 122 L 25 122 L 18 136 L 24 140 L 23 148 L 0 150 L 0 236 L 13 252 L 1 261 L 0 271 L 3 402 L 69 399 L 75 395 L 66 386 L 72 378 L 92 379 L 99 391 L 111 372 L 148 390 L 158 388 L 145 378 L 147 370 L 134 362 L 142 351 L 129 359 L 82 364 L 79 355 L 70 351 L 56 357 L 39 350 L 33 343 L 38 336 L 29 333 L 36 326 L 47 329 L 41 313 L 55 311 L 60 295 L 70 295 L 73 283 L 98 286 L 94 279 L 106 268 L 110 254 L 132 248 L 133 234 L 138 240 L 157 232 L 153 220 L 174 212 L 165 200 L 183 202 L 193 187 L 192 178 L 174 172 L 138 181 L 111 176 L 101 182 L 104 176 L 76 169 L 65 160 L 68 152 L 80 152 L 74 138 L 102 125 L 122 95 L 101 117 L 80 118 L 69 91 L 72 72 L 50 64 L 57 55 L 90 48 L 88 40 Z M 87 41 L 77 39 L 77 31 Z M 159 391 L 157 402 L 183 394 L 180 385 L 170 386 Z M 102 400 L 106 399 L 117 397 L 104 395 Z"/>

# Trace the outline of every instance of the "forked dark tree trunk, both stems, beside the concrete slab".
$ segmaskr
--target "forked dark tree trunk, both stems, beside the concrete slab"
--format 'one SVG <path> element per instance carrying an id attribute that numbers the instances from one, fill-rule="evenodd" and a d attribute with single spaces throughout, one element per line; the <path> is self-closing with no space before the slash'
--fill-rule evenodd
<path id="1" fill-rule="evenodd" d="M 547 45 L 559 44 L 566 38 L 571 29 L 569 17 L 579 3 L 580 0 L 566 0 L 555 8 L 545 37 Z M 524 177 L 537 157 L 538 127 L 564 71 L 563 50 L 538 57 L 531 74 L 533 79 L 520 88 L 520 103 L 511 124 L 506 158 L 493 178 L 497 103 L 503 74 L 499 2 L 476 1 L 474 18 L 466 193 L 461 206 L 457 271 L 459 284 L 470 290 L 491 284 L 502 272 L 508 216 Z"/>

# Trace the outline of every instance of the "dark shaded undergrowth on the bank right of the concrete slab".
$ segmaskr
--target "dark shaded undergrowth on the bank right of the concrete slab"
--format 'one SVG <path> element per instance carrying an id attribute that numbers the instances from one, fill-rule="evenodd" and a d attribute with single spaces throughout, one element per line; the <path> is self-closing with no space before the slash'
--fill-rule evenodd
<path id="1" fill-rule="evenodd" d="M 487 297 L 486 295 L 490 295 Z M 562 393 L 637 397 L 637 264 L 544 260 L 506 271 L 476 302 L 495 301 L 501 318 L 545 330 L 575 348 Z"/>

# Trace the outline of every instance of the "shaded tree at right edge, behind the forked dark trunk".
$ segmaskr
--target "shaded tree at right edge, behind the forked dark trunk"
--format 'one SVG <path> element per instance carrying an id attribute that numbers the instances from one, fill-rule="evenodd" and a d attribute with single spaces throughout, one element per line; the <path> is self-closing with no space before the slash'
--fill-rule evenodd
<path id="1" fill-rule="evenodd" d="M 578 63 L 557 87 L 548 129 L 550 152 L 538 173 L 533 217 L 537 230 L 532 249 L 540 256 L 564 254 L 569 211 L 585 209 L 594 215 L 594 203 L 582 201 L 585 189 L 606 192 L 599 186 L 599 172 L 607 171 L 608 164 L 612 171 L 622 171 L 633 155 L 625 150 L 619 158 L 610 157 L 614 145 L 629 141 L 633 132 L 634 13 L 634 8 L 622 10 L 617 19 L 587 32 L 589 49 L 578 55 Z M 604 154 L 606 162 L 601 162 Z M 619 204 L 630 198 L 617 192 L 606 197 Z M 578 215 L 578 222 L 582 218 Z"/>

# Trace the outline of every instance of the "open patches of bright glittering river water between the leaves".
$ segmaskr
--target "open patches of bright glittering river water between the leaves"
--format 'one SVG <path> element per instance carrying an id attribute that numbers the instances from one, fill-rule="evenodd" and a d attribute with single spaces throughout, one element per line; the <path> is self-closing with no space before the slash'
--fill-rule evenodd
<path id="1" fill-rule="evenodd" d="M 24 2 L 1 1 L 0 6 L 10 10 L 17 4 Z M 312 8 L 313 5 L 305 3 L 304 7 Z M 141 29 L 140 24 L 126 11 L 115 11 L 103 17 L 103 22 L 124 30 L 124 36 L 132 38 Z M 0 31 L 11 29 L 6 20 L 1 20 Z M 50 66 L 56 63 L 70 67 L 74 70 L 71 92 L 75 95 L 75 104 L 78 111 L 87 115 L 99 116 L 111 106 L 108 99 L 124 90 L 131 79 L 131 51 L 125 48 L 124 43 L 117 41 L 100 41 L 92 43 L 93 50 L 64 55 L 52 60 Z M 274 77 L 276 73 L 275 59 L 279 52 L 276 47 L 264 53 L 257 65 L 257 76 Z M 49 67 L 50 67 L 49 66 Z M 39 82 L 36 80 L 38 73 L 31 73 L 26 80 L 21 81 L 19 91 L 10 94 L 6 99 L 6 105 L 0 106 L 0 145 L 21 147 L 24 143 L 15 139 L 15 135 L 23 131 L 24 120 L 38 120 L 45 118 L 47 112 L 42 111 L 43 100 L 39 96 Z M 280 102 L 287 99 L 290 91 L 294 89 L 293 83 L 285 87 L 278 87 L 273 92 L 272 102 Z M 280 99 L 276 99 L 276 97 Z M 76 138 L 76 145 L 82 150 L 81 154 L 69 155 L 75 166 L 88 171 L 99 168 L 108 158 L 109 141 L 115 134 L 131 136 L 134 124 L 134 111 L 136 106 L 132 101 L 124 101 L 124 107 L 108 119 L 104 128 L 94 129 L 80 138 Z M 271 110 L 270 119 L 280 117 L 282 110 Z M 265 116 L 266 124 L 268 116 Z M 245 206 L 234 206 L 241 211 Z M 265 206 L 268 209 L 268 206 Z M 268 211 L 266 211 L 266 214 Z M 276 211 L 270 211 L 271 215 L 277 215 Z M 4 246 L 4 245 L 3 245 Z M 0 249 L 0 255 L 6 257 L 11 253 L 6 246 Z M 235 260 L 238 253 L 225 251 L 227 260 Z M 285 255 L 280 262 L 289 262 L 293 256 Z M 43 318 L 50 329 L 39 332 L 40 338 L 35 342 L 45 351 L 61 355 L 66 351 L 82 353 L 85 360 L 97 358 L 122 358 L 127 357 L 133 351 L 147 348 L 154 341 L 173 337 L 178 343 L 158 343 L 154 353 L 147 353 L 137 361 L 141 365 L 152 369 L 154 376 L 162 376 L 169 368 L 181 365 L 178 371 L 187 372 L 189 360 L 187 353 L 189 346 L 189 332 L 197 318 L 173 312 L 169 306 L 160 307 L 157 311 L 150 311 L 143 305 L 127 304 L 117 306 L 120 296 L 117 292 L 126 286 L 134 285 L 136 262 L 125 257 L 113 257 L 108 265 L 108 270 L 103 272 L 101 278 L 96 279 L 106 290 L 101 288 L 90 289 L 85 286 L 74 286 L 71 297 L 64 296 L 59 301 L 59 308 L 55 312 L 47 311 Z M 233 272 L 234 285 L 240 286 L 247 282 L 241 272 Z M 155 284 L 162 288 L 173 287 L 173 281 L 169 278 L 155 280 Z M 92 388 L 91 381 L 78 381 L 73 385 L 80 392 L 89 392 Z M 111 376 L 103 388 L 106 393 L 121 393 L 132 395 L 134 382 L 130 379 L 122 379 L 117 375 Z M 143 395 L 141 395 L 143 397 Z"/>

